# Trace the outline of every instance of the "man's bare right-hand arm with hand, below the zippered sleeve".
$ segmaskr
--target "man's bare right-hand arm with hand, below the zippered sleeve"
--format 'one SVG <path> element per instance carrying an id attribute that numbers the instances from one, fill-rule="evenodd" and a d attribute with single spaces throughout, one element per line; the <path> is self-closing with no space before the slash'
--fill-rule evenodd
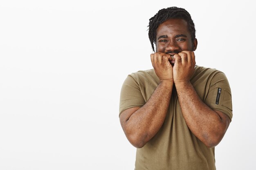
<path id="1" fill-rule="evenodd" d="M 190 83 L 195 66 L 195 55 L 182 51 L 174 56 L 173 79 L 186 124 L 206 146 L 214 147 L 223 138 L 230 119 L 218 110 L 212 110 L 202 102 Z"/>

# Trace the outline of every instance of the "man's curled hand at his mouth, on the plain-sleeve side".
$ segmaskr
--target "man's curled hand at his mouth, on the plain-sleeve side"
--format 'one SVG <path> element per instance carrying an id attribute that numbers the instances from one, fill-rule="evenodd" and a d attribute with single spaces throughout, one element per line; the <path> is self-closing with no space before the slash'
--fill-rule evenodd
<path id="1" fill-rule="evenodd" d="M 172 60 L 171 56 L 166 53 L 153 53 L 150 54 L 150 58 L 159 80 L 173 81 L 173 66 L 169 62 L 169 60 Z"/>

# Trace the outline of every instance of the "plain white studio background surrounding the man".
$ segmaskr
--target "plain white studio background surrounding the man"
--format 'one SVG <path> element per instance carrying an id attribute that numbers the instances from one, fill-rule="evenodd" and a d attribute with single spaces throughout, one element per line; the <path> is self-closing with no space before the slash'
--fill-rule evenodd
<path id="1" fill-rule="evenodd" d="M 152 68 L 148 20 L 183 7 L 200 66 L 229 79 L 233 119 L 218 170 L 256 169 L 256 12 L 249 0 L 1 0 L 0 169 L 132 170 L 119 123 L 126 76 Z"/>

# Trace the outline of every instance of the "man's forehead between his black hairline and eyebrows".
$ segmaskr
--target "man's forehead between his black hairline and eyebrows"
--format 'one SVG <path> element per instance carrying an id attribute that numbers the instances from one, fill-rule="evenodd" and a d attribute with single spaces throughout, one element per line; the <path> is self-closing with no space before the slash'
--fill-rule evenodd
<path id="1" fill-rule="evenodd" d="M 168 19 L 157 28 L 157 37 L 161 35 L 185 34 L 190 36 L 188 24 L 184 19 Z"/>

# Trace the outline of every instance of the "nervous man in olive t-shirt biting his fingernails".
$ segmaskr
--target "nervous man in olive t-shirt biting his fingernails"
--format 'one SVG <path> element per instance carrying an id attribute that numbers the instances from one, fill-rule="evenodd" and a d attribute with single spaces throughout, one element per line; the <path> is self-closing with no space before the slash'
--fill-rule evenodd
<path id="1" fill-rule="evenodd" d="M 215 170 L 214 147 L 232 118 L 227 78 L 195 65 L 198 41 L 185 9 L 159 10 L 148 35 L 153 69 L 128 75 L 120 97 L 121 126 L 137 148 L 135 170 Z"/>

